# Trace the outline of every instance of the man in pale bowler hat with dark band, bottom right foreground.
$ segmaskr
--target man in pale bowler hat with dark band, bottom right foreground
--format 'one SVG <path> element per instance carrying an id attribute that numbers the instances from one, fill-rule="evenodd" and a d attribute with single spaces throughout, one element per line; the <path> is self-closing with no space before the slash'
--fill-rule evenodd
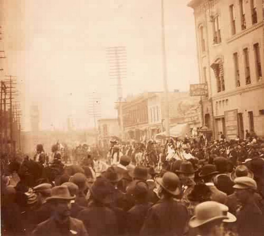
<path id="1" fill-rule="evenodd" d="M 200 236 L 223 235 L 222 222 L 234 222 L 235 217 L 226 212 L 223 204 L 207 201 L 195 207 L 195 215 L 190 219 L 189 226 L 197 228 Z"/>

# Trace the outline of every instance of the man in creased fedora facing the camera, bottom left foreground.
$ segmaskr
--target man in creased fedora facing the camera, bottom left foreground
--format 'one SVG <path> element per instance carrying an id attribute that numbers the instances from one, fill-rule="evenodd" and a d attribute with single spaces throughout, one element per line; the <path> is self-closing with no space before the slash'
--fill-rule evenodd
<path id="1" fill-rule="evenodd" d="M 51 189 L 51 197 L 46 201 L 51 204 L 51 217 L 38 224 L 33 231 L 33 236 L 65 236 L 65 235 L 82 235 L 88 236 L 82 221 L 70 217 L 71 196 L 67 186 L 56 186 Z"/>

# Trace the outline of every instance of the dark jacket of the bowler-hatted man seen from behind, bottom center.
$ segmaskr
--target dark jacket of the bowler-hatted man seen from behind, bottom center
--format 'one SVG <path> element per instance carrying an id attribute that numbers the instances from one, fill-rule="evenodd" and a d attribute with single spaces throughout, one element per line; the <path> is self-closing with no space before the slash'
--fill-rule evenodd
<path id="1" fill-rule="evenodd" d="M 185 206 L 173 199 L 158 201 L 149 210 L 140 231 L 142 236 L 181 236 L 189 216 Z"/>

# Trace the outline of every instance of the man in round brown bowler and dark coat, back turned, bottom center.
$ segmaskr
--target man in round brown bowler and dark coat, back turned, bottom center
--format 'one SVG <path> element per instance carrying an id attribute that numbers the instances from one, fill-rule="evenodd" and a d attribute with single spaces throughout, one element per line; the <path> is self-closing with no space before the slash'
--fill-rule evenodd
<path id="1" fill-rule="evenodd" d="M 179 178 L 172 172 L 166 172 L 162 178 L 156 178 L 156 182 L 160 200 L 148 210 L 140 235 L 181 236 L 187 226 L 188 211 L 173 199 L 181 192 Z"/>

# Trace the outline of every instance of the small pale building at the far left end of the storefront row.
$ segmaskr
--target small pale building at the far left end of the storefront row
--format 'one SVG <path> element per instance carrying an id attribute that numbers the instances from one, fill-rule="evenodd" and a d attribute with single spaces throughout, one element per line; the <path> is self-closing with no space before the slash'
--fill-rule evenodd
<path id="1" fill-rule="evenodd" d="M 118 119 L 99 119 L 97 120 L 97 124 L 99 146 L 108 148 L 110 140 L 119 137 L 120 128 Z"/>

